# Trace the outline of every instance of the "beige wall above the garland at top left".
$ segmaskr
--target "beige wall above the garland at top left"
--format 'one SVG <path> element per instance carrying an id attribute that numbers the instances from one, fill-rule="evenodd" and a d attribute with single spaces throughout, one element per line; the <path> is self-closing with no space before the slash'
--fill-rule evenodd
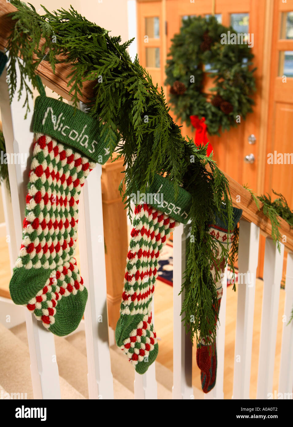
<path id="1" fill-rule="evenodd" d="M 28 2 L 26 2 L 28 3 Z M 91 22 L 111 31 L 111 35 L 121 35 L 122 42 L 128 40 L 128 12 L 127 0 L 30 0 L 41 14 L 41 4 L 49 11 L 63 7 L 69 9 L 73 6 L 81 15 Z M 51 97 L 58 97 L 46 88 L 46 93 Z M 0 115 L 1 120 L 1 115 Z M 4 222 L 2 196 L 0 191 L 0 223 Z"/>

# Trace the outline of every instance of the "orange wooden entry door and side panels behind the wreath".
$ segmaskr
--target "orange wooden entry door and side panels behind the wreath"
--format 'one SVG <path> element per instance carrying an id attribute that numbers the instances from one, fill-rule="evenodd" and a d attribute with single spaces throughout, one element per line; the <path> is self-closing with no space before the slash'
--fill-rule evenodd
<path id="1" fill-rule="evenodd" d="M 223 25 L 232 25 L 236 32 L 253 34 L 253 62 L 257 67 L 253 113 L 229 132 L 209 138 L 221 170 L 240 184 L 248 184 L 258 195 L 268 192 L 274 199 L 273 188 L 284 194 L 292 208 L 292 164 L 268 164 L 267 154 L 293 152 L 290 138 L 293 131 L 293 0 L 137 0 L 137 13 L 139 61 L 154 81 L 163 86 L 167 100 L 169 88 L 164 86 L 167 53 L 171 39 L 180 31 L 187 15 L 214 13 Z M 155 33 L 154 26 L 160 28 L 159 33 L 157 31 L 155 40 L 149 37 L 147 44 L 145 36 L 147 32 Z M 148 52 L 148 48 L 153 49 Z M 154 55 L 160 61 L 156 62 Z M 208 90 L 212 81 L 208 76 L 205 81 L 204 90 Z M 183 124 L 184 136 L 194 137 L 193 128 L 180 123 L 175 116 L 174 119 Z M 255 136 L 253 145 L 249 144 L 250 135 Z M 255 157 L 252 164 L 244 162 L 249 154 Z M 263 257 L 264 238 L 259 253 L 260 277 Z"/>

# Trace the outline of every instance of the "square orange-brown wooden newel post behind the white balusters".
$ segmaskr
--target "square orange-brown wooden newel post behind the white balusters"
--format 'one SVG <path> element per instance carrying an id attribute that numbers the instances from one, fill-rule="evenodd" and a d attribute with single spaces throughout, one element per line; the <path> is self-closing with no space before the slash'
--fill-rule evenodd
<path id="1" fill-rule="evenodd" d="M 113 155 L 115 158 L 115 153 Z M 112 163 L 109 159 L 102 166 L 102 202 L 107 278 L 107 307 L 109 326 L 115 329 L 125 275 L 128 249 L 127 213 L 118 187 L 123 178 L 123 159 Z"/>

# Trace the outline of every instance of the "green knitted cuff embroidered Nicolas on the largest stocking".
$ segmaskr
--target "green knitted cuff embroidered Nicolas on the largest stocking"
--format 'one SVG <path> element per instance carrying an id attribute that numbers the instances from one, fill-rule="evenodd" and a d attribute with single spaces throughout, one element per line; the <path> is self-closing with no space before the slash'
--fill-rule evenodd
<path id="1" fill-rule="evenodd" d="M 99 121 L 72 105 L 44 96 L 35 100 L 33 132 L 50 135 L 100 164 L 111 154 L 109 134 L 102 130 Z"/>

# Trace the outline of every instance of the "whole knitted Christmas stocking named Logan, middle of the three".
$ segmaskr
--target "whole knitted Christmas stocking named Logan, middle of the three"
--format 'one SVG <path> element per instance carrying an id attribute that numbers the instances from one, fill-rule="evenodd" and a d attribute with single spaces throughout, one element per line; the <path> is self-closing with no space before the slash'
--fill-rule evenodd
<path id="1" fill-rule="evenodd" d="M 158 354 L 151 310 L 160 253 L 174 227 L 179 222 L 187 223 L 190 203 L 191 195 L 186 190 L 181 188 L 175 200 L 173 184 L 156 175 L 147 200 L 136 205 L 134 211 L 115 336 L 117 345 L 139 374 L 148 369 Z"/>

